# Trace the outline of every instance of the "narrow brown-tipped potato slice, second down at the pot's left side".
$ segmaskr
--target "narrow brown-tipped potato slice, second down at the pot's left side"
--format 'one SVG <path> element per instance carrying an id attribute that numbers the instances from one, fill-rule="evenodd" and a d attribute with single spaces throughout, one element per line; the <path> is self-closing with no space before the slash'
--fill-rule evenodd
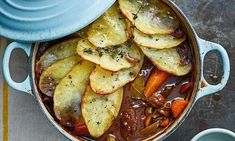
<path id="1" fill-rule="evenodd" d="M 79 61 L 82 61 L 82 58 L 76 55 L 59 60 L 49 66 L 40 76 L 40 90 L 47 96 L 51 97 L 59 81 L 64 78 Z"/>

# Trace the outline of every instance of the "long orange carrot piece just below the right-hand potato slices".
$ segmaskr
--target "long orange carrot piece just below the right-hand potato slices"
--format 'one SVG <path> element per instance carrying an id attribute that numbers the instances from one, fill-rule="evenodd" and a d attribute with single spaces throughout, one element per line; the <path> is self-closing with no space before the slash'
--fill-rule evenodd
<path id="1" fill-rule="evenodd" d="M 153 93 L 167 80 L 169 73 L 161 71 L 157 68 L 153 70 L 144 89 L 144 94 L 147 98 L 151 97 Z"/>

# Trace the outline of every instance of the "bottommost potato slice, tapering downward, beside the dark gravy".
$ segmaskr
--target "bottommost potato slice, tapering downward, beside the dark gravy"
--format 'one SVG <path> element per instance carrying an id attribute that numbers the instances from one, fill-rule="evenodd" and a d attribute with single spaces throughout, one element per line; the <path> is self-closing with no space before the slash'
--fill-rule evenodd
<path id="1" fill-rule="evenodd" d="M 82 99 L 82 115 L 93 137 L 100 137 L 117 117 L 123 98 L 123 88 L 112 94 L 99 95 L 87 86 Z"/>

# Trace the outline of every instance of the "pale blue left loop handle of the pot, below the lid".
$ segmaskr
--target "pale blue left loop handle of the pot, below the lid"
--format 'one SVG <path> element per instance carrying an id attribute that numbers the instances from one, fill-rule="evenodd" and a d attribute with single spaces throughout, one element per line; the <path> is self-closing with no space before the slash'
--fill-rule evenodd
<path id="1" fill-rule="evenodd" d="M 12 87 L 13 89 L 16 89 L 18 91 L 22 91 L 22 92 L 26 92 L 30 95 L 33 96 L 32 94 L 32 88 L 31 88 L 31 84 L 30 84 L 30 79 L 29 79 L 29 75 L 27 76 L 27 78 L 23 81 L 23 82 L 15 82 L 14 80 L 12 80 L 11 75 L 10 75 L 10 69 L 9 69 L 9 63 L 10 63 L 10 57 L 11 57 L 11 53 L 14 49 L 22 49 L 25 51 L 25 53 L 30 56 L 30 52 L 31 52 L 31 46 L 32 44 L 27 44 L 27 43 L 18 43 L 18 42 L 12 42 L 11 44 L 9 44 L 4 52 L 3 55 L 3 76 L 7 82 L 7 84 Z"/>

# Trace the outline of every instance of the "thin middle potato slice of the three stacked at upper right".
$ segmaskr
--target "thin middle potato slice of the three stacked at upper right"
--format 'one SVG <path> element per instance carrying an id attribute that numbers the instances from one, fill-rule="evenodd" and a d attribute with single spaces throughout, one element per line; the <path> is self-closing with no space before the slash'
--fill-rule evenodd
<path id="1" fill-rule="evenodd" d="M 147 35 L 137 29 L 134 29 L 133 40 L 136 44 L 141 46 L 155 49 L 165 49 L 180 45 L 185 40 L 185 36 L 182 38 L 175 38 L 174 36 L 167 34 Z"/>

